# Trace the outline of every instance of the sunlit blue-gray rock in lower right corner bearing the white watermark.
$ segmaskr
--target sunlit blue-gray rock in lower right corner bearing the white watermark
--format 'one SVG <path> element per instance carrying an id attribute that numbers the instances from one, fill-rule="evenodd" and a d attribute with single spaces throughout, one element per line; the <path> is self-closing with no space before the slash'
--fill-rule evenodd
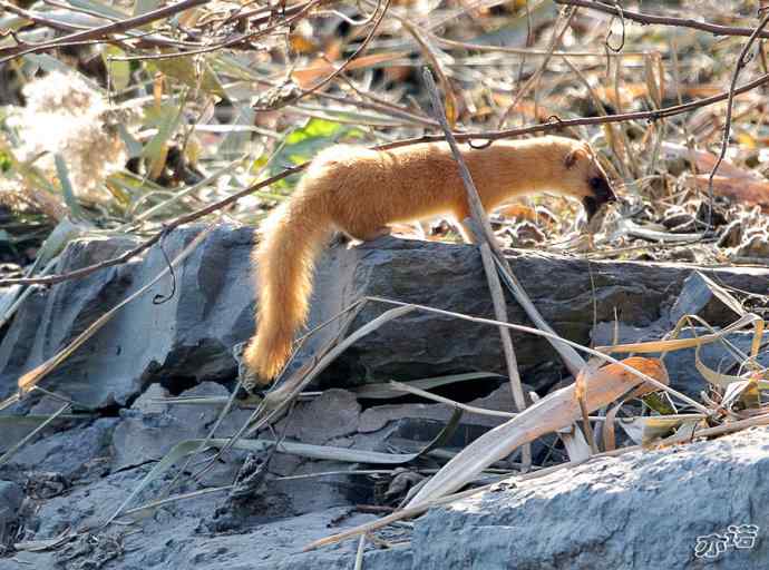
<path id="1" fill-rule="evenodd" d="M 766 568 L 767 469 L 761 428 L 503 485 L 418 519 L 410 568 Z M 695 556 L 741 524 L 758 527 L 752 548 Z"/>

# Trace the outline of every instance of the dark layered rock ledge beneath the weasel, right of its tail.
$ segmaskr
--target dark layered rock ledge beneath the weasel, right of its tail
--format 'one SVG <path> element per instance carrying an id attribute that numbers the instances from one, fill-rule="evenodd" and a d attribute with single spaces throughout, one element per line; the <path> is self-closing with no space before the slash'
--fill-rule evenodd
<path id="1" fill-rule="evenodd" d="M 345 257 L 342 257 L 343 253 Z M 358 257 L 356 286 L 361 294 L 493 317 L 481 264 L 473 248 L 448 244 L 426 246 L 421 242 L 383 238 L 352 252 L 333 252 L 324 268 L 330 275 L 321 282 L 338 275 L 344 279 L 341 262 L 349 263 L 348 258 L 352 256 Z M 588 343 L 594 316 L 598 322 L 613 321 L 616 311 L 620 321 L 639 327 L 668 316 L 684 279 L 693 271 L 674 264 L 586 262 L 530 252 L 515 253 L 510 263 L 553 328 L 583 344 Z M 766 291 L 769 269 L 713 269 L 708 274 L 730 286 L 762 292 Z M 328 286 L 321 288 L 319 295 L 324 301 L 335 301 L 338 295 L 329 291 Z M 347 295 L 354 298 L 349 292 Z M 317 315 L 315 322 L 330 318 L 341 305 L 343 303 L 331 303 L 331 308 Z M 353 327 L 383 309 L 383 306 L 369 305 Z M 508 303 L 507 309 L 512 323 L 529 324 L 515 303 Z M 731 323 L 733 314 L 719 305 L 708 312 L 707 318 L 713 326 L 719 326 Z M 513 341 L 523 380 L 538 390 L 541 386 L 536 379 L 528 379 L 526 374 L 533 366 L 555 360 L 555 353 L 546 342 L 532 335 L 513 332 Z M 476 323 L 413 312 L 360 340 L 331 366 L 327 377 L 360 383 L 468 370 L 505 373 L 497 331 Z"/>

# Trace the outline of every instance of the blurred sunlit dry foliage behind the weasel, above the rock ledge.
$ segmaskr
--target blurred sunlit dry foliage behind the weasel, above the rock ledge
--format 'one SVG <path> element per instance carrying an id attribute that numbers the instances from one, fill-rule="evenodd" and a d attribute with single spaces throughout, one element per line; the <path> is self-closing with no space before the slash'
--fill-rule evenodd
<path id="1" fill-rule="evenodd" d="M 0 0 L 2 274 L 33 262 L 57 225 L 64 224 L 56 234 L 64 242 L 53 249 L 79 235 L 149 235 L 330 145 L 435 134 L 425 66 L 455 130 L 486 131 L 722 92 L 747 41 L 562 4 Z M 617 4 L 671 18 L 707 14 L 710 23 L 742 28 L 756 27 L 760 8 Z M 739 83 L 768 72 L 761 40 Z M 711 264 L 769 258 L 762 91 L 736 100 L 712 213 L 707 177 L 726 104 L 664 120 L 555 129 L 593 144 L 625 200 L 607 216 L 591 255 Z M 295 180 L 239 200 L 225 219 L 259 224 Z M 574 237 L 578 210 L 563 198 L 537 197 L 494 222 L 506 245 L 584 250 Z M 716 232 L 703 237 L 709 216 Z M 445 225 L 403 232 L 454 238 Z"/>

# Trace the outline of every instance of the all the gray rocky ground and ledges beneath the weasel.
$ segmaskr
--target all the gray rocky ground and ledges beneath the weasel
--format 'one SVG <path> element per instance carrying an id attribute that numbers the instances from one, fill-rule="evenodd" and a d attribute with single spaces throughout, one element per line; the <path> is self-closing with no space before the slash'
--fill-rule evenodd
<path id="1" fill-rule="evenodd" d="M 195 232 L 171 234 L 164 242 L 168 256 L 178 254 Z M 59 271 L 113 257 L 130 245 L 124 239 L 71 244 Z M 357 505 L 396 504 L 396 480 L 382 473 L 382 465 L 273 453 L 267 444 L 231 451 L 205 472 L 196 460 L 173 492 L 205 494 L 103 527 L 158 460 L 178 443 L 204 436 L 216 422 L 236 379 L 233 348 L 253 328 L 251 245 L 250 229 L 218 228 L 175 272 L 175 285 L 171 277 L 162 279 L 43 380 L 47 390 L 94 410 L 60 416 L 0 465 L 0 570 L 353 567 L 354 540 L 315 552 L 303 553 L 302 548 L 374 520 L 377 514 Z M 659 338 L 688 313 L 713 326 L 736 320 L 690 267 L 588 264 L 532 253 L 517 253 L 512 263 L 545 318 L 582 343 L 607 344 L 615 330 L 623 342 Z M 86 279 L 36 288 L 3 331 L 0 396 L 13 392 L 20 373 L 51 356 L 165 266 L 154 248 L 143 259 Z M 708 275 L 763 293 L 769 269 Z M 168 301 L 153 303 L 171 291 Z M 324 322 L 361 295 L 491 315 L 480 262 L 473 248 L 460 245 L 386 238 L 332 248 L 319 267 L 315 299 L 322 303 L 313 304 L 312 323 Z M 384 308 L 367 305 L 353 328 Z M 514 303 L 508 311 L 510 321 L 527 322 Z M 333 326 L 324 330 L 299 362 L 332 334 Z M 750 337 L 740 333 L 733 341 L 746 350 Z M 530 390 L 544 395 L 563 380 L 546 343 L 518 333 L 514 342 Z M 703 350 L 714 368 L 726 370 L 724 355 L 717 345 Z M 691 351 L 668 356 L 674 385 L 698 393 L 704 383 L 693 363 Z M 255 436 L 412 453 L 446 424 L 450 406 L 416 397 L 364 397 L 354 386 L 477 370 L 503 372 L 494 327 L 412 313 L 356 344 L 322 376 L 320 392 L 298 402 L 274 430 Z M 504 379 L 466 381 L 440 391 L 471 405 L 512 409 Z M 164 401 L 175 394 L 194 396 L 197 403 Z M 36 394 L 3 412 L 16 416 L 3 424 L 0 454 L 60 405 Z M 235 433 L 250 414 L 236 407 L 216 436 Z M 456 451 L 500 421 L 466 414 L 445 451 Z M 516 485 L 508 482 L 496 492 L 434 510 L 412 525 L 388 528 L 378 537 L 390 548 L 382 548 L 382 541 L 369 543 L 363 568 L 698 568 L 704 561 L 716 568 L 761 568 L 769 551 L 762 539 L 769 522 L 758 502 L 769 458 L 766 435 L 766 430 L 755 430 L 678 450 L 594 461 Z M 535 459 L 563 459 L 554 441 L 537 442 Z M 435 469 L 437 459 L 434 453 L 416 465 Z M 350 470 L 366 474 L 345 473 Z M 164 497 L 175 473 L 172 469 L 152 481 L 129 507 Z M 420 476 L 399 473 L 403 480 L 415 478 L 409 484 Z M 698 537 L 722 535 L 732 524 L 759 527 L 755 548 L 724 547 L 712 560 L 697 557 Z"/>

